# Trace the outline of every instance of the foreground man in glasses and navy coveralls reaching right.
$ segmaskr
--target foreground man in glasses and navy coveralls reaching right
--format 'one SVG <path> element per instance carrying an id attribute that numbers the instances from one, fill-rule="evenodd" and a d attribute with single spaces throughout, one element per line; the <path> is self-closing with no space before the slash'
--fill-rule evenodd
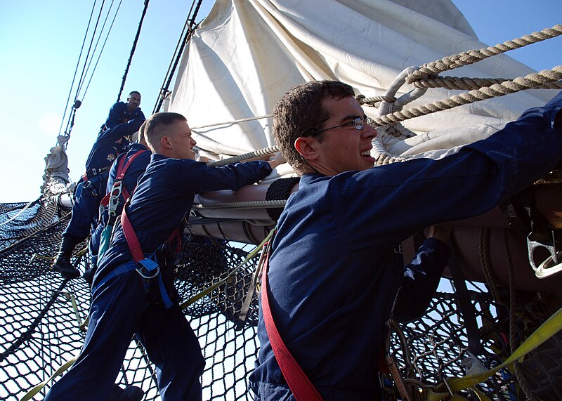
<path id="1" fill-rule="evenodd" d="M 381 400 L 385 323 L 397 294 L 408 292 L 405 280 L 425 285 L 423 270 L 404 270 L 401 242 L 484 213 L 555 169 L 561 109 L 558 93 L 453 155 L 373 166 L 377 131 L 351 86 L 311 81 L 286 93 L 273 111 L 273 136 L 301 181 L 263 275 L 261 346 L 249 376 L 256 400 Z M 303 388 L 313 398 L 294 393 Z"/>

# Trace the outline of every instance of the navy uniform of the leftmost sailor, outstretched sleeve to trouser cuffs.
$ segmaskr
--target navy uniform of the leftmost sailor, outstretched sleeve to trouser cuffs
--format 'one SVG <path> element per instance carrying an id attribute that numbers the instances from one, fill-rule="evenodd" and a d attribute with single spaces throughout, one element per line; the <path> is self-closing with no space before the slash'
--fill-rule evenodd
<path id="1" fill-rule="evenodd" d="M 86 160 L 86 173 L 74 191 L 72 216 L 63 232 L 63 237 L 70 235 L 78 243 L 90 234 L 92 223 L 94 223 L 94 227 L 96 226 L 98 207 L 105 196 L 110 166 L 117 155 L 124 152 L 126 146 L 129 145 L 129 141 L 124 139 L 124 136 L 138 131 L 141 124 L 143 124 L 143 120 L 134 119 L 98 134 Z M 120 144 L 117 143 L 119 139 L 122 139 Z"/>

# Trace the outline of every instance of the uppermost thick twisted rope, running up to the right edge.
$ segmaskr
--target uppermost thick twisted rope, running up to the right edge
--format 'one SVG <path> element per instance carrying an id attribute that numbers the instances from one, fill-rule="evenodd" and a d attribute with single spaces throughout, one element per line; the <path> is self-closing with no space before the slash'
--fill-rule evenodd
<path id="1" fill-rule="evenodd" d="M 439 72 L 444 72 L 447 70 L 453 70 L 464 65 L 471 65 L 477 63 L 478 61 L 484 60 L 485 58 L 492 57 L 492 55 L 498 55 L 505 53 L 506 51 L 514 50 L 516 48 L 521 48 L 527 46 L 528 44 L 534 44 L 546 39 L 551 39 L 562 34 L 562 25 L 554 25 L 554 27 L 542 29 L 540 32 L 532 32 L 532 34 L 525 35 L 521 38 L 513 39 L 511 41 L 505 41 L 503 44 L 497 44 L 495 46 L 489 46 L 487 48 L 481 48 L 479 50 L 465 51 L 459 54 L 450 55 L 448 57 L 442 58 L 441 60 L 436 60 L 431 63 L 422 65 L 419 70 L 410 74 L 406 81 L 411 84 L 413 81 L 418 79 L 424 79 L 426 76 L 431 74 L 438 74 Z"/>

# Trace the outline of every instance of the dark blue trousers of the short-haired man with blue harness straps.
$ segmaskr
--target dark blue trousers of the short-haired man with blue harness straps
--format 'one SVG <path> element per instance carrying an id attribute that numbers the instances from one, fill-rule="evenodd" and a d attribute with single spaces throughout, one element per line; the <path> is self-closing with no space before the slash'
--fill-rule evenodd
<path id="1" fill-rule="evenodd" d="M 162 400 L 202 399 L 204 359 L 197 337 L 176 303 L 166 310 L 150 300 L 151 285 L 133 270 L 96 288 L 81 353 L 45 401 L 105 400 L 133 334 L 156 365 Z"/>

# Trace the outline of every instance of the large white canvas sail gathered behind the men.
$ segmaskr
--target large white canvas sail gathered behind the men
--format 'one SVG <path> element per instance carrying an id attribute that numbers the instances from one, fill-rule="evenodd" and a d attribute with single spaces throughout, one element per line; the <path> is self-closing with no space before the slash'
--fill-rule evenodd
<path id="1" fill-rule="evenodd" d="M 274 145 L 270 118 L 196 127 L 270 114 L 304 81 L 337 79 L 357 94 L 380 96 L 407 67 L 486 46 L 449 0 L 218 0 L 190 40 L 166 111 L 188 118 L 202 150 L 240 155 Z M 444 75 L 513 79 L 531 72 L 504 54 Z M 405 85 L 398 96 L 412 89 Z M 458 93 L 429 89 L 406 108 Z M 552 96 L 525 91 L 410 119 L 403 125 L 419 136 L 385 149 L 439 157 Z M 374 107 L 364 109 L 377 117 Z"/>

